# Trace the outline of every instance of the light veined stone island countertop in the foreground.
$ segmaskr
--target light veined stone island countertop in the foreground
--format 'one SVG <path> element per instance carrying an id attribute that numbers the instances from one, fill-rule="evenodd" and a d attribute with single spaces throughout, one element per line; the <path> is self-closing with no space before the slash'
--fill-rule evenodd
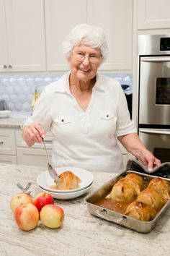
<path id="1" fill-rule="evenodd" d="M 84 196 L 72 200 L 55 200 L 65 211 L 60 229 L 48 229 L 40 223 L 32 231 L 22 231 L 14 223 L 9 202 L 19 189 L 32 182 L 32 197 L 40 192 L 37 175 L 43 168 L 0 163 L 0 255 L 61 255 L 61 256 L 155 256 L 170 255 L 170 209 L 158 221 L 153 231 L 140 234 L 115 223 L 91 216 Z M 91 191 L 112 179 L 115 174 L 94 172 Z M 90 191 L 90 192 L 91 192 Z"/>

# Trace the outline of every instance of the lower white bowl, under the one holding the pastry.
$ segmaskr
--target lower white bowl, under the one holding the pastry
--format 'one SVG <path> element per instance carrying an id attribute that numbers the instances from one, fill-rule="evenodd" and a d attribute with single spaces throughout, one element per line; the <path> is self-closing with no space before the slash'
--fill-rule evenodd
<path id="1" fill-rule="evenodd" d="M 76 197 L 80 197 L 81 195 L 84 195 L 86 192 L 89 191 L 91 188 L 92 183 L 86 187 L 85 189 L 81 189 L 75 192 L 68 192 L 68 193 L 58 193 L 58 192 L 51 192 L 49 190 L 45 190 L 42 187 L 38 186 L 43 192 L 48 192 L 50 195 L 52 195 L 53 198 L 60 199 L 60 200 L 68 200 L 68 199 L 73 199 Z"/>

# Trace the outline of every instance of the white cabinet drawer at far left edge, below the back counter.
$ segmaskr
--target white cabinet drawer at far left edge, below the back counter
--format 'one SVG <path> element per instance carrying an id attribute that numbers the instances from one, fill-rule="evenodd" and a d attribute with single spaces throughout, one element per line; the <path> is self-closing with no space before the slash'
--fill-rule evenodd
<path id="1" fill-rule="evenodd" d="M 0 129 L 0 154 L 15 155 L 15 138 L 13 129 Z"/>

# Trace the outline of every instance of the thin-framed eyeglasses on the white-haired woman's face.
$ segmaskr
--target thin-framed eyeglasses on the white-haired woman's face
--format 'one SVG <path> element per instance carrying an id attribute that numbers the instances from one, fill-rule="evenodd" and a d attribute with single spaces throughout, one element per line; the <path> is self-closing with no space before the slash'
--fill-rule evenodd
<path id="1" fill-rule="evenodd" d="M 78 51 L 76 53 L 71 51 L 71 54 L 73 54 L 73 57 L 74 59 L 76 59 L 76 61 L 84 61 L 84 59 L 88 58 L 91 63 L 99 64 L 99 62 L 102 60 L 102 56 L 97 54 L 86 55 L 84 54 L 84 52 L 81 51 Z"/>

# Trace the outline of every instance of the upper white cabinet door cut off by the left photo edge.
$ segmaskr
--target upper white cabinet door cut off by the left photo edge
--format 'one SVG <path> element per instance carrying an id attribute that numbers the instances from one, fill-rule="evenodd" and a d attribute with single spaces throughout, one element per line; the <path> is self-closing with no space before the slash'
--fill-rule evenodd
<path id="1" fill-rule="evenodd" d="M 5 0 L 0 0 L 0 71 L 6 72 L 8 65 L 6 23 L 5 23 Z"/>

